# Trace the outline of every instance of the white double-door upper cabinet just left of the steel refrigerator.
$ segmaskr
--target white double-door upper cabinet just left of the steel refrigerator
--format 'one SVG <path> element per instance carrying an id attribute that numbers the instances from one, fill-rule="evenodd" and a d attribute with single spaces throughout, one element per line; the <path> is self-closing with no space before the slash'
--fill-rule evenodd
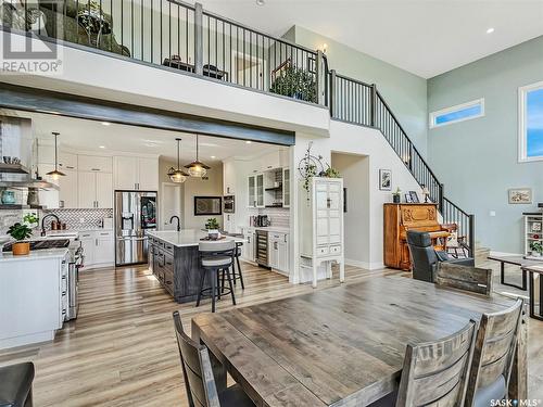
<path id="1" fill-rule="evenodd" d="M 77 178 L 79 208 L 113 207 L 113 178 L 111 174 L 78 171 Z"/>

